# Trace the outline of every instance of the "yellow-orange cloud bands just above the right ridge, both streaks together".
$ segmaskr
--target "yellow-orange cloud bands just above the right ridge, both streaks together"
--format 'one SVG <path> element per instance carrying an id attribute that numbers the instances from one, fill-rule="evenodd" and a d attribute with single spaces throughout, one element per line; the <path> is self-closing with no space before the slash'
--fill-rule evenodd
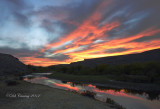
<path id="1" fill-rule="evenodd" d="M 111 40 L 109 42 L 104 42 L 100 44 L 91 45 L 90 49 L 77 51 L 77 52 L 70 52 L 66 53 L 69 55 L 73 61 L 81 61 L 83 59 L 89 58 L 98 58 L 98 57 L 105 57 L 105 56 L 116 56 L 116 55 L 124 55 L 124 54 L 131 54 L 135 52 L 143 52 L 151 49 L 160 48 L 160 40 L 152 40 L 148 42 L 134 42 L 135 39 L 141 37 L 152 37 L 160 32 L 160 29 L 148 29 L 142 33 L 139 33 L 134 36 L 129 36 L 128 38 L 119 38 L 115 40 Z M 133 42 L 132 42 L 133 41 Z M 125 48 L 128 49 L 123 52 L 115 52 L 115 53 L 107 53 L 106 50 L 109 49 L 117 49 L 117 48 Z"/>

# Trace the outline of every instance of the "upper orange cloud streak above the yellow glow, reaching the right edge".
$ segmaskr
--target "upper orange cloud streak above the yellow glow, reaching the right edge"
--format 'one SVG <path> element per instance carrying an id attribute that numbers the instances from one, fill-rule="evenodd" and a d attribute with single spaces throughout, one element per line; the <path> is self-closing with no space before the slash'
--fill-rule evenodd
<path id="1" fill-rule="evenodd" d="M 100 44 L 94 44 L 91 46 L 92 49 L 84 50 L 81 53 L 93 53 L 93 52 L 102 51 L 106 49 L 114 49 L 114 48 L 122 48 L 122 47 L 127 48 L 131 46 L 130 45 L 132 43 L 131 41 L 134 41 L 135 39 L 139 39 L 141 37 L 149 37 L 159 32 L 160 32 L 160 29 L 155 29 L 155 30 L 148 29 L 134 36 L 128 36 L 125 38 L 118 38 L 118 39 L 114 39 L 114 40 L 100 43 Z M 132 47 L 136 47 L 136 46 L 132 46 Z"/>

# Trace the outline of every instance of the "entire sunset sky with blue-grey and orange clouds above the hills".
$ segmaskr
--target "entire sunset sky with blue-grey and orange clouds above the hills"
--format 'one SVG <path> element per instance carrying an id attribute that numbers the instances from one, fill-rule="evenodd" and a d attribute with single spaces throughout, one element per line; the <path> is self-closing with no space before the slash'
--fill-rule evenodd
<path id="1" fill-rule="evenodd" d="M 0 52 L 49 66 L 160 48 L 160 0 L 0 0 Z"/>

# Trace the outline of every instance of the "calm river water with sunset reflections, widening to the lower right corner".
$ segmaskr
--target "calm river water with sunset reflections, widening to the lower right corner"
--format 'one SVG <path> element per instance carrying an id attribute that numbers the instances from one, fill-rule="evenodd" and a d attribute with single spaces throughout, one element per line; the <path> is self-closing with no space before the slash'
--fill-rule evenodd
<path id="1" fill-rule="evenodd" d="M 73 82 L 64 82 L 37 75 L 30 79 L 26 77 L 24 80 L 63 90 L 75 91 L 81 95 L 93 97 L 102 102 L 106 102 L 107 98 L 111 98 L 127 109 L 159 109 L 160 107 L 159 93 L 154 95 L 126 89 L 105 89 L 104 87 L 102 88 L 92 84 L 75 84 Z"/>

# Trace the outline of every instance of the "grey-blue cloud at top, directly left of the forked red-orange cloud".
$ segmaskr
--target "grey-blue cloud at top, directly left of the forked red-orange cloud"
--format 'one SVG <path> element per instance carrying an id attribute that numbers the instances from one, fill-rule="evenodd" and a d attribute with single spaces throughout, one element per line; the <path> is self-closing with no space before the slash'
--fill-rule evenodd
<path id="1" fill-rule="evenodd" d="M 31 12 L 31 15 L 41 19 L 41 27 L 49 32 L 54 32 L 56 26 L 63 29 L 63 34 L 68 34 L 76 29 L 86 18 L 95 11 L 102 0 L 87 0 L 69 3 L 61 6 L 45 6 Z M 83 7 L 83 8 L 82 8 Z M 63 37 L 63 35 L 61 36 Z"/>

